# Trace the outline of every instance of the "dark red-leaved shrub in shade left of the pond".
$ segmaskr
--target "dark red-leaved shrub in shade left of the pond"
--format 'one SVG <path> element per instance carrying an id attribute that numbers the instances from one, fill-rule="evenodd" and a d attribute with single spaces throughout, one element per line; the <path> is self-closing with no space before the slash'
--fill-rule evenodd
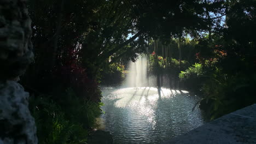
<path id="1" fill-rule="evenodd" d="M 56 77 L 66 88 L 71 87 L 75 94 L 85 100 L 100 102 L 101 91 L 96 80 L 90 79 L 78 61 L 78 49 L 69 49 L 62 65 L 55 71 Z"/>

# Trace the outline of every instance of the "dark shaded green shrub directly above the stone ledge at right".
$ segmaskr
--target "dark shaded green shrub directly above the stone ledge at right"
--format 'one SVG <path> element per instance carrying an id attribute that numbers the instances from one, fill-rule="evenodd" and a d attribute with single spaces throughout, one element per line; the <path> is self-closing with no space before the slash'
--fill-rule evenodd
<path id="1" fill-rule="evenodd" d="M 251 77 L 251 79 L 249 78 Z M 218 118 L 247 105 L 254 104 L 252 74 L 226 75 L 223 71 L 216 71 L 207 77 L 202 86 L 205 95 L 204 110 L 211 119 Z"/>

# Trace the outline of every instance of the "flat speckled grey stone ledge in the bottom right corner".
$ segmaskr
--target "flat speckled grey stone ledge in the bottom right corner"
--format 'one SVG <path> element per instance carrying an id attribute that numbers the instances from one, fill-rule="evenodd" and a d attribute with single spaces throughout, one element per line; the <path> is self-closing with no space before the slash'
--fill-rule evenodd
<path id="1" fill-rule="evenodd" d="M 256 143 L 256 104 L 229 113 L 162 144 Z"/>

